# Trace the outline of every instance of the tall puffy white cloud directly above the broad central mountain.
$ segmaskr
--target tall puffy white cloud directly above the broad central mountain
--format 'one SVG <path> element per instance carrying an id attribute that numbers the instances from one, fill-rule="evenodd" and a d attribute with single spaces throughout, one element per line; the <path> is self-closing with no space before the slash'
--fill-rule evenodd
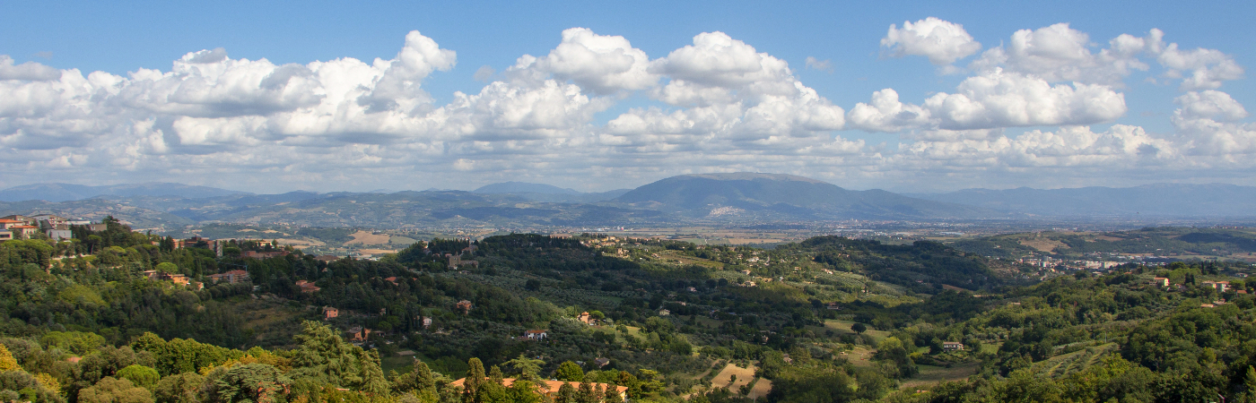
<path id="1" fill-rule="evenodd" d="M 627 137 L 618 147 L 796 148 L 791 138 L 845 126 L 845 110 L 799 82 L 786 62 L 725 33 L 693 36 L 653 60 L 651 72 L 669 79 L 652 97 L 674 109 L 637 108 L 612 119 L 607 133 Z"/>

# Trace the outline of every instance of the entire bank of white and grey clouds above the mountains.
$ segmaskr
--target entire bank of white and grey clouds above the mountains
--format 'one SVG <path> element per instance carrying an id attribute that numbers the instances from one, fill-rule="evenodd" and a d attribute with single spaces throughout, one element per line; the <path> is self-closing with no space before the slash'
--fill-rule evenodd
<path id="1" fill-rule="evenodd" d="M 848 110 L 788 62 L 725 33 L 651 58 L 627 38 L 584 28 L 501 72 L 480 67 L 475 78 L 487 83 L 479 93 L 447 103 L 423 84 L 455 69 L 457 54 L 418 31 L 387 60 L 276 65 L 206 49 L 124 77 L 0 55 L 0 181 L 273 192 L 533 180 L 607 190 L 764 171 L 863 187 L 970 187 L 1044 176 L 1235 180 L 1256 164 L 1256 126 L 1220 90 L 1242 67 L 1216 49 L 1182 50 L 1157 29 L 1100 46 L 1055 24 L 981 51 L 962 25 L 928 18 L 891 25 L 880 46 L 967 77 L 916 100 L 885 88 Z M 828 60 L 803 64 L 831 72 Z M 1179 89 L 1172 133 L 1112 124 L 1128 112 L 1134 72 Z M 619 107 L 625 99 L 639 100 Z M 854 132 L 897 133 L 899 143 Z"/>

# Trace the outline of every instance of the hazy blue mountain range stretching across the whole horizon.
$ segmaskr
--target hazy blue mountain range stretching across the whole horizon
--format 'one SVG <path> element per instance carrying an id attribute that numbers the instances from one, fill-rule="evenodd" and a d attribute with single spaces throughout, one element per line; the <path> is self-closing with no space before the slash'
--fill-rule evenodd
<path id="1" fill-rule="evenodd" d="M 293 226 L 603 226 L 831 220 L 1034 220 L 1078 217 L 1256 217 L 1256 187 L 1147 185 L 1129 188 L 852 191 L 772 173 L 682 175 L 634 190 L 585 193 L 504 182 L 475 191 L 254 195 L 180 183 L 28 185 L 0 191 L 0 215 L 53 212 L 141 228 L 236 222 Z"/>

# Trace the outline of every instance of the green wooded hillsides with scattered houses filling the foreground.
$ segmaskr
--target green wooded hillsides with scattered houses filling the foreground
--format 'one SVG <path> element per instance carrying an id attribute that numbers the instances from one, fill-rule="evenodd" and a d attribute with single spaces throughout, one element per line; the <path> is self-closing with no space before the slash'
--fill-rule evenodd
<path id="1" fill-rule="evenodd" d="M 1096 275 L 928 241 L 588 234 L 328 260 L 104 223 L 0 242 L 0 400 L 1256 398 L 1250 265 Z"/>

